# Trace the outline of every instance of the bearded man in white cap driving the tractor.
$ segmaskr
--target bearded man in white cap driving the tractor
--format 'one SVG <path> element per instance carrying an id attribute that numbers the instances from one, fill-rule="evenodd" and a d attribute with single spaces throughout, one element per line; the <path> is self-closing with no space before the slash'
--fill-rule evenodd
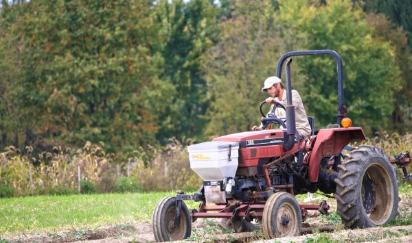
<path id="1" fill-rule="evenodd" d="M 271 97 L 266 99 L 266 103 L 270 104 L 273 101 L 278 101 L 284 105 L 286 105 L 286 92 L 284 92 L 284 85 L 282 84 L 282 80 L 279 77 L 273 76 L 268 77 L 264 81 L 264 86 L 262 88 L 262 92 L 267 91 L 268 94 L 271 94 Z M 304 103 L 299 95 L 299 92 L 296 90 L 292 90 L 292 101 L 293 106 L 295 106 L 295 120 L 296 120 L 296 129 L 297 129 L 297 140 L 301 140 L 303 138 L 308 138 L 310 136 L 310 125 L 308 121 L 308 116 L 306 116 L 306 111 L 304 107 Z M 282 120 L 286 120 L 286 112 L 283 109 L 276 109 L 276 105 L 271 105 L 271 110 L 269 110 L 268 114 L 274 114 L 277 118 Z M 253 131 L 262 130 L 262 124 L 260 126 L 253 126 Z"/>

